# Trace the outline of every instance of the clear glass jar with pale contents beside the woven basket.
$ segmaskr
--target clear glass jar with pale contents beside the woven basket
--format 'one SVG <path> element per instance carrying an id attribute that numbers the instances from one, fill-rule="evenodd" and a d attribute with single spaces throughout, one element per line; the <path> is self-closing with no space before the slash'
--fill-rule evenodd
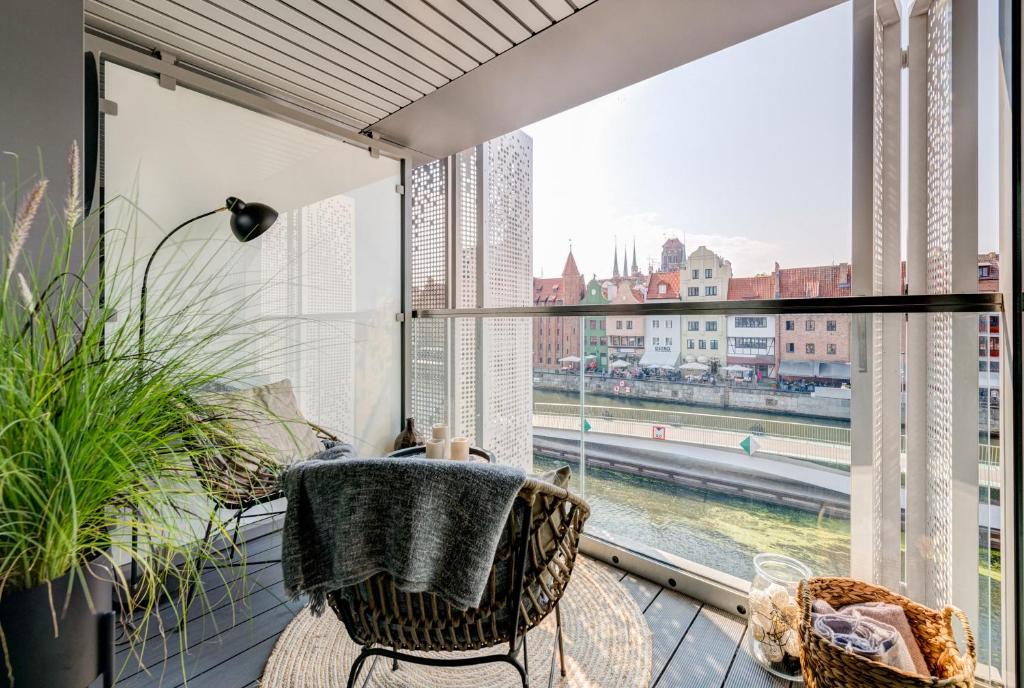
<path id="1" fill-rule="evenodd" d="M 769 674 L 803 683 L 800 674 L 800 607 L 797 588 L 811 569 L 781 554 L 754 557 L 750 611 L 751 655 Z"/>

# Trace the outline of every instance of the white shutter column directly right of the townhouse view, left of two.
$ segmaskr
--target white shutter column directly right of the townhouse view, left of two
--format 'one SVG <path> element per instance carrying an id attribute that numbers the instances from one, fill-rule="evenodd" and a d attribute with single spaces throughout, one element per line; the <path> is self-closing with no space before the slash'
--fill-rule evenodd
<path id="1" fill-rule="evenodd" d="M 893 0 L 854 4 L 853 289 L 900 289 L 900 48 Z M 851 559 L 857 577 L 898 590 L 902 317 L 854 318 Z"/>

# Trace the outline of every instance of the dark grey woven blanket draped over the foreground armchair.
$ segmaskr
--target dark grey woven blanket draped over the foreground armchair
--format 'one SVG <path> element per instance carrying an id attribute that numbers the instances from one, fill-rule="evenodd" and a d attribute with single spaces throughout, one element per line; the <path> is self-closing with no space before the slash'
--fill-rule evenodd
<path id="1" fill-rule="evenodd" d="M 426 459 L 331 461 L 283 476 L 285 589 L 314 614 L 328 593 L 387 572 L 402 591 L 479 605 L 525 474 L 508 466 Z"/>

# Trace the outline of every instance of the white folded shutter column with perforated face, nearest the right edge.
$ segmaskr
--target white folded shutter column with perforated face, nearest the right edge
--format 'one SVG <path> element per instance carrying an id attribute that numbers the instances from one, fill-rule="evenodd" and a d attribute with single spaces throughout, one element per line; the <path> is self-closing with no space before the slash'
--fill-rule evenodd
<path id="1" fill-rule="evenodd" d="M 907 273 L 914 292 L 977 291 L 978 5 L 931 0 L 910 26 Z M 907 592 L 978 621 L 978 316 L 908 333 Z"/>

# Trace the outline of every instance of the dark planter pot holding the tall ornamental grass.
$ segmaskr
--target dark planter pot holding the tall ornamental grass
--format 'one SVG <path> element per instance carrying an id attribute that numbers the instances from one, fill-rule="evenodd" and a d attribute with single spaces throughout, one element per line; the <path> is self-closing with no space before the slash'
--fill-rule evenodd
<path id="1" fill-rule="evenodd" d="M 93 567 L 105 573 L 96 564 Z M 0 629 L 7 643 L 6 657 L 0 648 L 0 688 L 86 688 L 100 675 L 104 688 L 114 684 L 110 575 L 85 572 L 91 607 L 76 578 L 65 607 L 71 575 L 0 598 Z M 54 610 L 57 637 L 53 635 Z M 4 659 L 13 670 L 13 683 Z"/>

